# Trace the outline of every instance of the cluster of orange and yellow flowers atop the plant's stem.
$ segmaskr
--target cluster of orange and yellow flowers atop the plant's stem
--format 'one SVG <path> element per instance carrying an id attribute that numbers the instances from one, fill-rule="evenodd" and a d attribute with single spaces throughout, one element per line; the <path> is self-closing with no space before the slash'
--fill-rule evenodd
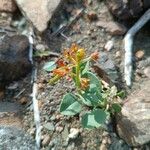
<path id="1" fill-rule="evenodd" d="M 86 89 L 89 79 L 81 77 L 81 65 L 84 62 L 97 60 L 98 58 L 97 51 L 86 57 L 84 48 L 80 48 L 77 44 L 72 44 L 70 48 L 64 49 L 63 58 L 57 60 L 57 68 L 53 70 L 54 78 L 60 79 L 66 76 L 69 79 L 75 79 L 78 88 Z"/>

